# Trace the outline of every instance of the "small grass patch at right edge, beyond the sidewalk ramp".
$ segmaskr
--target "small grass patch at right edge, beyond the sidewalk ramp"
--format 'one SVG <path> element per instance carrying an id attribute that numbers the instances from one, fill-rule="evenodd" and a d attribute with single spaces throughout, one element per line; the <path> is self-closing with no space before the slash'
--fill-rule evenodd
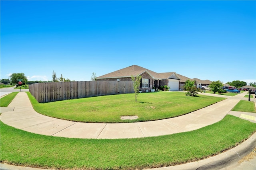
<path id="1" fill-rule="evenodd" d="M 240 100 L 238 104 L 236 104 L 236 106 L 232 109 L 232 111 L 256 113 L 256 108 L 254 102 Z"/>

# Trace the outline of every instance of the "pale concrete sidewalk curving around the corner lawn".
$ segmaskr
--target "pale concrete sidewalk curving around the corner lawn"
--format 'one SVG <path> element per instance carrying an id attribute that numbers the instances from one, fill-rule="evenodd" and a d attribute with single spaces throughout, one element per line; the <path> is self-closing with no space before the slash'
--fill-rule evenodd
<path id="1" fill-rule="evenodd" d="M 153 137 L 192 131 L 216 123 L 223 119 L 245 94 L 247 92 L 233 97 L 226 96 L 226 100 L 170 119 L 138 123 L 80 123 L 37 113 L 27 94 L 20 92 L 7 108 L 1 107 L 0 119 L 3 123 L 24 131 L 58 137 L 87 139 Z"/>

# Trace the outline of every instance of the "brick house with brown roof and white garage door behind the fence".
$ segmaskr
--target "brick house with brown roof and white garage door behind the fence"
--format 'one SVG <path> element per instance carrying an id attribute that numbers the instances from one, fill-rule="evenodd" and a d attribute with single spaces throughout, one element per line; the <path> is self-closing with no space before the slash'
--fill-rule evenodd
<path id="1" fill-rule="evenodd" d="M 179 90 L 180 77 L 176 72 L 157 73 L 141 66 L 132 65 L 114 72 L 110 72 L 96 78 L 97 81 L 131 81 L 131 76 L 140 75 L 142 77 L 140 90 L 150 90 L 153 87 L 170 86 L 171 91 Z"/>

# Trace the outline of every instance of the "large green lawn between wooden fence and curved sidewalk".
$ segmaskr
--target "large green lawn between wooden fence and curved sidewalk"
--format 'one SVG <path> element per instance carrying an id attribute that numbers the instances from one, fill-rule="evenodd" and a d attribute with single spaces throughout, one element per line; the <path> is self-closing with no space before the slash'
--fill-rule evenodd
<path id="1" fill-rule="evenodd" d="M 27 92 L 34 109 L 43 115 L 78 122 L 124 123 L 152 121 L 184 115 L 225 98 L 199 95 L 185 96 L 182 92 L 140 93 L 98 96 L 58 102 L 38 103 Z M 137 115 L 135 120 L 121 120 L 120 116 Z"/>

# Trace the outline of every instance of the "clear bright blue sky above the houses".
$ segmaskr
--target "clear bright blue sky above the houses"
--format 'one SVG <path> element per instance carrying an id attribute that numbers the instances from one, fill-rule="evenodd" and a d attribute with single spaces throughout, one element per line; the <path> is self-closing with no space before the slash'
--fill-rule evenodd
<path id="1" fill-rule="evenodd" d="M 256 1 L 0 3 L 1 78 L 87 81 L 135 64 L 256 82 Z"/>

